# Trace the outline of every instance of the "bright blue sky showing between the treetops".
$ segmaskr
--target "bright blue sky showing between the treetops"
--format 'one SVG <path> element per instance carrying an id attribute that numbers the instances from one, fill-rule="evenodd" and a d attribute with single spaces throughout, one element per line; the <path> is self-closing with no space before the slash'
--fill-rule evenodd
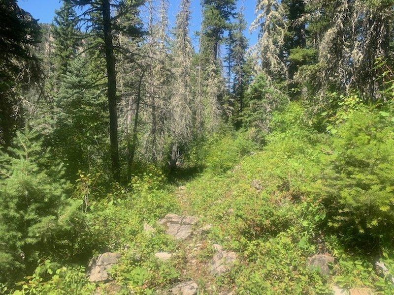
<path id="1" fill-rule="evenodd" d="M 180 0 L 169 0 L 170 6 L 168 8 L 170 25 L 172 26 L 175 20 L 176 13 L 178 11 L 178 5 Z M 242 0 L 238 0 L 238 6 L 241 5 Z M 245 0 L 245 18 L 248 24 L 250 25 L 254 18 L 254 8 L 255 8 L 255 0 Z M 51 23 L 53 16 L 55 14 L 55 9 L 59 9 L 61 6 L 61 1 L 59 0 L 18 0 L 19 6 L 30 12 L 35 19 L 39 19 L 40 23 Z M 192 21 L 190 26 L 190 31 L 192 37 L 194 37 L 193 32 L 198 31 L 200 28 L 200 20 L 201 20 L 201 8 L 200 8 L 200 0 L 192 0 L 191 5 L 192 10 Z M 250 34 L 249 31 L 245 31 L 246 36 L 250 39 L 249 43 L 254 44 L 257 40 L 257 33 Z M 196 41 L 196 40 L 194 40 Z"/>

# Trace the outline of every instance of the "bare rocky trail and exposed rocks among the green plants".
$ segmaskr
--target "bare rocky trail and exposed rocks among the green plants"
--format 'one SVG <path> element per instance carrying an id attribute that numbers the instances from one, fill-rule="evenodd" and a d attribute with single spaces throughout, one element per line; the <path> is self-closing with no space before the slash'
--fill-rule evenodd
<path id="1" fill-rule="evenodd" d="M 235 295 L 236 286 L 217 286 L 216 279 L 230 271 L 236 264 L 242 263 L 240 255 L 222 245 L 211 244 L 207 234 L 211 230 L 210 224 L 202 224 L 198 217 L 188 216 L 188 201 L 182 194 L 183 188 L 178 190 L 180 204 L 185 215 L 167 214 L 157 221 L 156 227 L 164 227 L 167 235 L 178 241 L 178 249 L 174 253 L 157 252 L 159 260 L 170 260 L 183 255 L 184 264 L 179 283 L 169 290 L 157 290 L 158 295 Z M 154 232 L 155 227 L 144 224 L 144 231 Z M 207 253 L 211 256 L 207 257 Z M 88 266 L 88 275 L 91 282 L 100 284 L 96 294 L 118 294 L 120 287 L 113 282 L 108 274 L 108 269 L 118 263 L 120 253 L 103 253 L 93 258 Z M 308 265 L 316 268 L 322 275 L 328 276 L 330 267 L 335 264 L 335 258 L 328 254 L 316 254 L 309 258 Z M 199 290 L 204 282 L 204 291 Z M 366 288 L 354 288 L 345 290 L 338 286 L 332 286 L 333 295 L 371 295 L 373 292 Z"/>

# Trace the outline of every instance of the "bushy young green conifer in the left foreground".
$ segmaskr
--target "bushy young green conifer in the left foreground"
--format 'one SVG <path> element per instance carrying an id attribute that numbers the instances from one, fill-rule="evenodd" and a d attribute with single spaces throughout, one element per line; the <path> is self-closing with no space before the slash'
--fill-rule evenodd
<path id="1" fill-rule="evenodd" d="M 61 166 L 48 167 L 37 133 L 18 132 L 1 153 L 1 281 L 13 280 L 42 255 L 70 258 L 75 230 L 83 230 L 80 202 L 66 198 Z"/>

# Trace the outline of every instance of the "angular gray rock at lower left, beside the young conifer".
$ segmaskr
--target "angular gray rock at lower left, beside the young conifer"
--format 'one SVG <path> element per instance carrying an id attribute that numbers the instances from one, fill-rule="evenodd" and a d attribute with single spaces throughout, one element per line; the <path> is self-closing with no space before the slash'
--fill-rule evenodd
<path id="1" fill-rule="evenodd" d="M 108 274 L 108 269 L 118 263 L 120 253 L 104 253 L 97 259 L 92 258 L 88 266 L 88 276 L 91 282 L 109 282 L 112 278 Z"/>

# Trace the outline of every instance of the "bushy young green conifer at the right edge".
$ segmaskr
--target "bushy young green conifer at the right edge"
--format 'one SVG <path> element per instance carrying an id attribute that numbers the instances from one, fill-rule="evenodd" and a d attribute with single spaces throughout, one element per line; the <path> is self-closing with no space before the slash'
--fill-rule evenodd
<path id="1" fill-rule="evenodd" d="M 384 111 L 361 108 L 339 125 L 318 181 L 329 225 L 345 239 L 377 246 L 394 225 L 394 121 Z"/>

